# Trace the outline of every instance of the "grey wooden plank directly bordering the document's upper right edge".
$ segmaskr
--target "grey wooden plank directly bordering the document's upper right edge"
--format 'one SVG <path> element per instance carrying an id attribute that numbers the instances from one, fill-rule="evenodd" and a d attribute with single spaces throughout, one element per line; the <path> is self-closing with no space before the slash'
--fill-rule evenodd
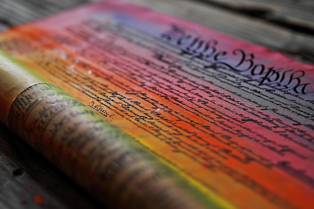
<path id="1" fill-rule="evenodd" d="M 314 63 L 314 37 L 260 19 L 188 0 L 129 0 L 186 19 L 245 42 L 266 46 L 293 59 Z"/>

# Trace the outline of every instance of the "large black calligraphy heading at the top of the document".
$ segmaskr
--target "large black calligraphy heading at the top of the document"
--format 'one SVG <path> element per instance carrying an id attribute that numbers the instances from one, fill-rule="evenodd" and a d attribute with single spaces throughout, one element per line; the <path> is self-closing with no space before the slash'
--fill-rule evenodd
<path id="1" fill-rule="evenodd" d="M 266 67 L 264 64 L 256 64 L 253 53 L 246 53 L 242 49 L 234 49 L 232 53 L 218 50 L 218 40 L 205 40 L 195 32 L 173 25 L 170 30 L 162 33 L 161 37 L 176 44 L 183 50 L 183 54 L 191 55 L 202 60 L 211 61 L 211 65 L 204 68 L 225 66 L 228 69 L 239 72 L 257 81 L 258 86 L 267 85 L 291 94 L 308 94 L 310 83 L 302 82 L 305 72 L 302 70 Z M 252 78 L 254 78 L 252 80 Z"/>

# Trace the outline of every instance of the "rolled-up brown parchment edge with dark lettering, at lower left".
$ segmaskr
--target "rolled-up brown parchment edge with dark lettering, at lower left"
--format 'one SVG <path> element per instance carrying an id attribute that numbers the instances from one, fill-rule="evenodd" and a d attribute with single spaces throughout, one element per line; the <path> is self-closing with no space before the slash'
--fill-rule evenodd
<path id="1" fill-rule="evenodd" d="M 1 122 L 105 204 L 201 208 L 134 139 L 2 52 L 0 107 Z"/>

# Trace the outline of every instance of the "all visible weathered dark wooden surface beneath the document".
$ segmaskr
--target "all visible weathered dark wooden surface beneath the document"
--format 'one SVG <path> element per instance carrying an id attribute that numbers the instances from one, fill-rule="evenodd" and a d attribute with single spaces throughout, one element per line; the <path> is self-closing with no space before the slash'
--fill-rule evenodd
<path id="1" fill-rule="evenodd" d="M 128 0 L 314 64 L 312 0 Z M 93 2 L 0 0 L 0 31 Z M 0 208 L 99 208 L 0 123 Z"/>

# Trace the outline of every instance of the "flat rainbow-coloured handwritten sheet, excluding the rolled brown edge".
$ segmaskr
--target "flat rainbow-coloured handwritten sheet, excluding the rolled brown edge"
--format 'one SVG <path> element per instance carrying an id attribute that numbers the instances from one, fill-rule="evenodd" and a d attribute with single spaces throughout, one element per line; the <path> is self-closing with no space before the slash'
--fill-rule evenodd
<path id="1" fill-rule="evenodd" d="M 12 28 L 0 49 L 131 135 L 202 198 L 314 208 L 313 65 L 122 1 Z"/>

